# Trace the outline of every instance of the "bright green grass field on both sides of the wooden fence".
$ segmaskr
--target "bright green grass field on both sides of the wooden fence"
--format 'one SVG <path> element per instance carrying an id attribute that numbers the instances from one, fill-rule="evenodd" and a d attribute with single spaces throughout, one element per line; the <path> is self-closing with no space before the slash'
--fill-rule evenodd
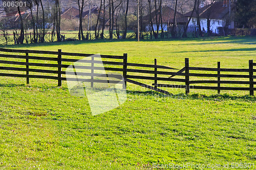
<path id="1" fill-rule="evenodd" d="M 255 37 L 6 47 L 127 53 L 128 62 L 153 64 L 157 58 L 159 65 L 179 69 L 184 58 L 202 67 L 221 61 L 223 68 L 248 68 L 248 60 L 256 60 Z M 1 169 L 159 169 L 156 164 L 169 163 L 221 165 L 204 169 L 243 163 L 240 169 L 256 169 L 256 98 L 248 91 L 191 90 L 186 96 L 184 89 L 167 89 L 175 95 L 166 96 L 128 83 L 121 107 L 93 116 L 87 99 L 71 96 L 66 83 L 60 88 L 53 80 L 0 80 Z"/>

